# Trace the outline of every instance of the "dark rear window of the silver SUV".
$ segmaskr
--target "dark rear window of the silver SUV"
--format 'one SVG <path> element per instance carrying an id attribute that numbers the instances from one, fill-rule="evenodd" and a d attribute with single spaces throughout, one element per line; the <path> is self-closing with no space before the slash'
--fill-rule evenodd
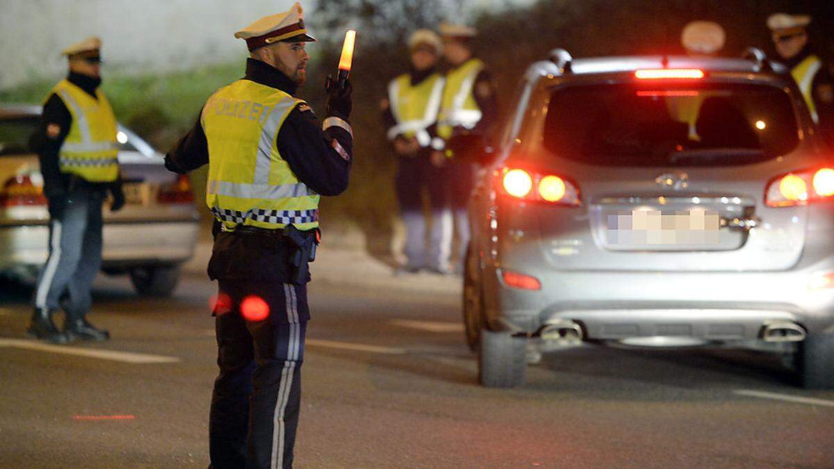
<path id="1" fill-rule="evenodd" d="M 799 144 L 788 94 L 767 85 L 619 83 L 556 89 L 545 148 L 609 166 L 751 164 Z"/>

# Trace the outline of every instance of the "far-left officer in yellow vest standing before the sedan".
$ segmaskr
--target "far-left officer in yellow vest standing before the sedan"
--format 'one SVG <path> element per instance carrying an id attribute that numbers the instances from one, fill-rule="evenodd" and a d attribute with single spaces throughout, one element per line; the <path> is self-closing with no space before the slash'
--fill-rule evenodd
<path id="1" fill-rule="evenodd" d="M 43 191 L 49 201 L 49 256 L 38 280 L 35 312 L 28 333 L 64 344 L 107 340 L 107 330 L 91 325 L 90 290 L 102 260 L 102 204 L 124 204 L 118 169 L 116 118 L 98 88 L 101 40 L 88 38 L 63 51 L 69 75 L 43 104 L 41 124 L 30 139 L 38 154 Z M 60 306 L 63 331 L 53 322 Z"/>

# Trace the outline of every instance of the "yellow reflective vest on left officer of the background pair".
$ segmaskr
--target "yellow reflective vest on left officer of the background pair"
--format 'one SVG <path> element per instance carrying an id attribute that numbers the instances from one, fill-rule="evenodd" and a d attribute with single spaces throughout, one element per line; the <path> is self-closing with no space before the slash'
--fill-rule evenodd
<path id="1" fill-rule="evenodd" d="M 388 129 L 389 140 L 402 134 L 408 138 L 416 137 L 421 147 L 432 143 L 427 129 L 437 122 L 444 83 L 440 73 L 432 73 L 416 85 L 411 84 L 408 73 L 391 80 L 388 100 L 397 124 Z"/>

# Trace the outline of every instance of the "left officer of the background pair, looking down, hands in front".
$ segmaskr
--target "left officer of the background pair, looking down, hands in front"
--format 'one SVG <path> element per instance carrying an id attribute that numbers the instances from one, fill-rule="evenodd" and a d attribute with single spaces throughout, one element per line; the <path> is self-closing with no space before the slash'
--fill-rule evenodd
<path id="1" fill-rule="evenodd" d="M 433 149 L 442 149 L 437 136 L 437 113 L 444 79 L 437 72 L 443 44 L 429 29 L 419 29 L 409 37 L 411 69 L 391 80 L 388 98 L 383 100 L 383 120 L 388 139 L 398 156 L 394 189 L 405 224 L 405 272 L 423 269 L 445 274 L 449 270 L 449 244 L 452 237 L 451 214 L 445 193 L 443 162 L 432 164 Z M 425 249 L 426 219 L 423 191 L 431 207 L 430 249 Z"/>

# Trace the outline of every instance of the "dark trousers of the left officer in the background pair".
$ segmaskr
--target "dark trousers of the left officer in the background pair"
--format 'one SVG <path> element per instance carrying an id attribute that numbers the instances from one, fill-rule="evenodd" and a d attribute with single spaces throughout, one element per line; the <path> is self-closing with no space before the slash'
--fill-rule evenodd
<path id="1" fill-rule="evenodd" d="M 405 257 L 408 266 L 445 270 L 449 263 L 452 219 L 445 189 L 445 168 L 431 164 L 427 151 L 414 157 L 400 157 L 394 181 L 399 209 L 405 224 Z M 429 195 L 431 232 L 426 250 L 426 218 L 423 192 Z"/>

